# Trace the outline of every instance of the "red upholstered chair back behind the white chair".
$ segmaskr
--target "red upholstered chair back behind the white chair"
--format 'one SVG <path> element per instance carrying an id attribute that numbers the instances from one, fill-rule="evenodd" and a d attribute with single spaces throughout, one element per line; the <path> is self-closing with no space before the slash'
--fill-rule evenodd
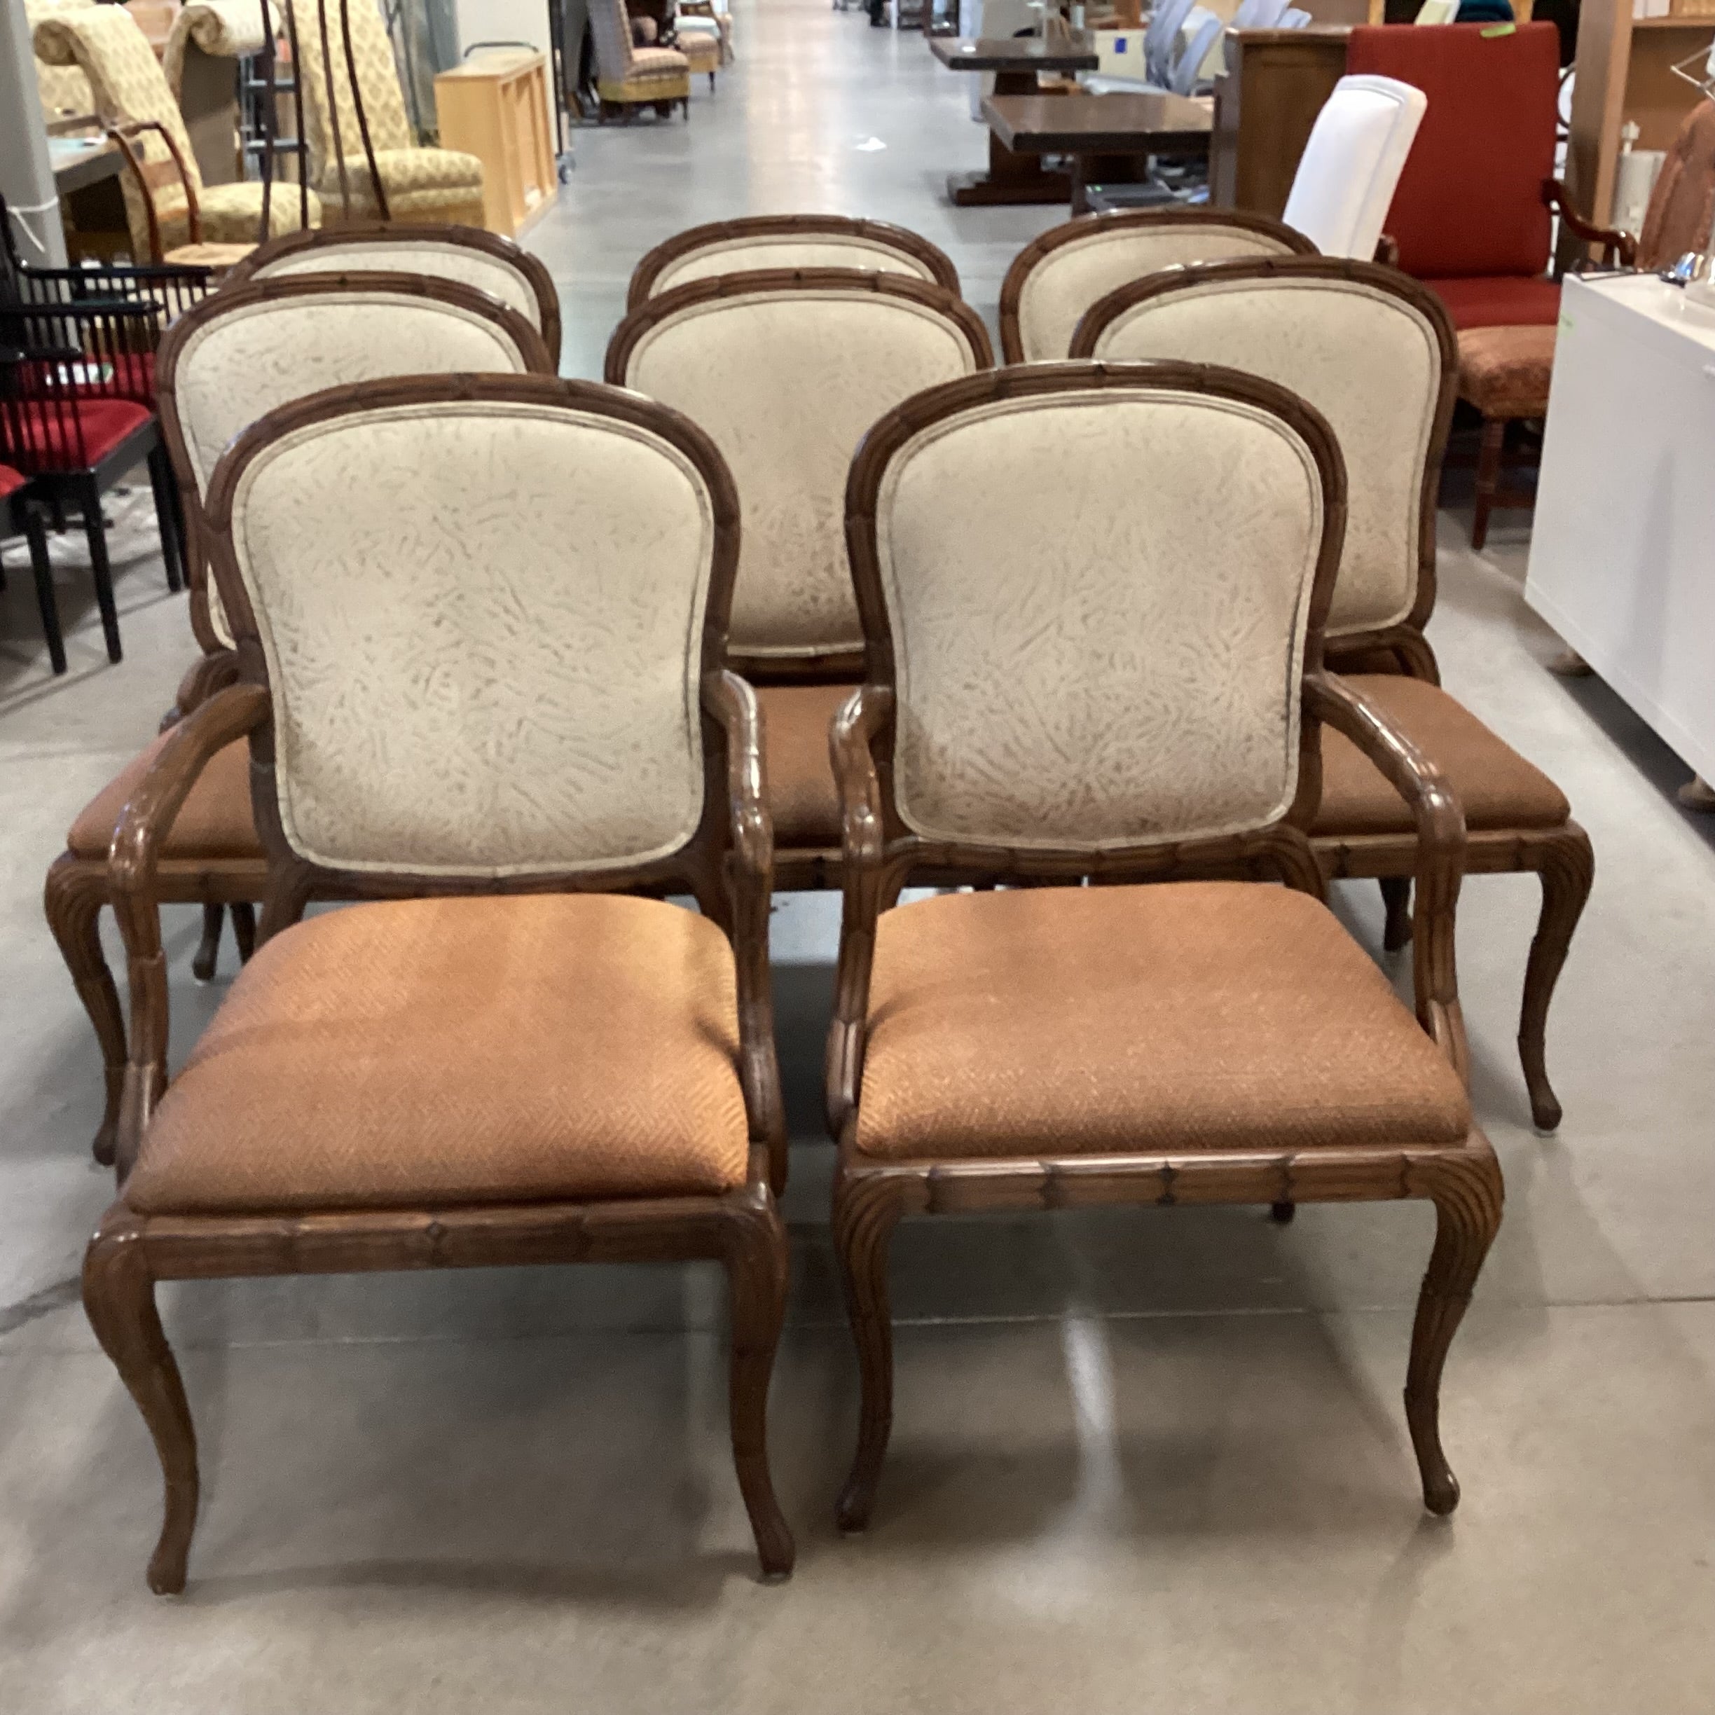
<path id="1" fill-rule="evenodd" d="M 1485 36 L 1489 27 L 1360 26 L 1346 50 L 1348 72 L 1398 77 L 1429 96 L 1386 228 L 1418 280 L 1549 266 L 1542 185 L 1554 177 L 1559 31 L 1519 24 Z"/>

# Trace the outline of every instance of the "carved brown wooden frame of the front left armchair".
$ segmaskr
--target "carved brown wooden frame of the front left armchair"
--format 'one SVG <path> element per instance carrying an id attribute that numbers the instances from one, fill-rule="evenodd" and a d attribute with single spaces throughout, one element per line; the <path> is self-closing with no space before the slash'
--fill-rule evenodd
<path id="1" fill-rule="evenodd" d="M 274 789 L 268 667 L 232 547 L 232 506 L 250 461 L 312 424 L 401 405 L 506 401 L 576 410 L 648 430 L 676 448 L 707 485 L 713 569 L 701 633 L 705 801 L 691 839 L 665 858 L 597 875 L 448 878 L 410 870 L 341 871 L 286 844 Z M 720 1261 L 732 1295 L 732 1451 L 768 1578 L 792 1568 L 792 1537 L 768 1475 L 767 1396 L 785 1309 L 787 1242 L 773 1202 L 785 1178 L 785 1118 L 768 988 L 772 830 L 763 799 L 756 701 L 724 669 L 737 564 L 737 494 L 720 454 L 684 417 L 635 394 L 545 376 L 406 377 L 334 388 L 247 429 L 223 456 L 209 494 L 209 544 L 238 638 L 240 679 L 170 734 L 120 818 L 110 890 L 130 967 L 132 1031 L 118 1127 L 120 1178 L 135 1161 L 166 1087 L 166 964 L 161 954 L 158 851 L 197 772 L 225 744 L 250 739 L 257 825 L 268 849 L 261 935 L 297 923 L 312 899 L 400 899 L 542 892 L 689 892 L 732 943 L 737 974 L 739 1080 L 749 1118 L 748 1182 L 722 1195 L 566 1200 L 520 1206 L 341 1209 L 309 1214 L 147 1216 L 113 1204 L 84 1259 L 84 1305 L 103 1350 L 137 1401 L 161 1459 L 165 1519 L 149 1586 L 177 1592 L 196 1526 L 196 1435 L 184 1384 L 154 1305 L 159 1279 L 348 1274 L 525 1262 Z"/>

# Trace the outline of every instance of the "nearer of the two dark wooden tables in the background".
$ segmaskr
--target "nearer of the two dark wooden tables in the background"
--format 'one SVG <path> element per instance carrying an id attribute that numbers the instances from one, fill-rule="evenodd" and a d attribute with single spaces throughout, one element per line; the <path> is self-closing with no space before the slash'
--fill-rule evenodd
<path id="1" fill-rule="evenodd" d="M 1019 154 L 1072 156 L 1072 213 L 1089 208 L 1092 180 L 1135 170 L 1139 156 L 1209 153 L 1214 105 L 1206 96 L 1002 96 L 983 117 L 1002 146 Z"/>

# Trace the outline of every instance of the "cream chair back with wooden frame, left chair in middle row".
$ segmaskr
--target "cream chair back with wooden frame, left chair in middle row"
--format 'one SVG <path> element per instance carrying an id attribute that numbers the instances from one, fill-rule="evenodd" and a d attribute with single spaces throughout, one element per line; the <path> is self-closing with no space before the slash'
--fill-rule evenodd
<path id="1" fill-rule="evenodd" d="M 194 545 L 216 461 L 268 412 L 326 388 L 391 376 L 551 374 L 552 367 L 516 310 L 446 280 L 322 274 L 225 286 L 168 329 L 156 358 L 161 427 Z M 425 475 L 425 487 L 441 475 Z M 314 504 L 305 496 L 305 508 Z M 190 571 L 202 647 L 230 647 L 232 629 L 199 552 L 190 554 Z"/>

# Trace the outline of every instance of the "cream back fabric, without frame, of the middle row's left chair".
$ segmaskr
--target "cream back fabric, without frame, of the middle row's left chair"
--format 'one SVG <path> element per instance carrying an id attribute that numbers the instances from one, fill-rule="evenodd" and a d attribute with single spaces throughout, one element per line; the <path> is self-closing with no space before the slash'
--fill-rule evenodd
<path id="1" fill-rule="evenodd" d="M 220 454 L 268 412 L 322 388 L 384 376 L 523 374 L 523 353 L 492 322 L 451 304 L 391 292 L 329 292 L 216 316 L 178 353 L 173 405 L 197 490 L 208 494 Z M 432 485 L 444 473 L 425 473 Z M 321 496 L 302 496 L 305 514 Z M 232 641 L 220 590 L 209 621 Z"/>

